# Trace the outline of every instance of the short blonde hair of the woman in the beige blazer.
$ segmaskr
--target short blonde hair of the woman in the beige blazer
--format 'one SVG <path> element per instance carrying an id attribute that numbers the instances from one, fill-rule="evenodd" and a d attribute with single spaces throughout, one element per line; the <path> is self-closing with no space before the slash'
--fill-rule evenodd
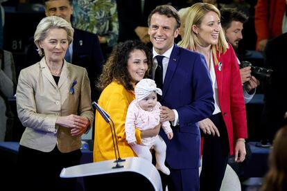
<path id="1" fill-rule="evenodd" d="M 38 24 L 34 34 L 34 43 L 38 48 L 37 51 L 40 56 L 44 55 L 44 52 L 40 47 L 40 42 L 46 38 L 46 35 L 52 28 L 62 28 L 66 30 L 69 44 L 71 44 L 71 42 L 73 41 L 73 28 L 71 27 L 71 24 L 69 22 L 57 16 L 44 17 L 44 19 L 42 19 Z"/>

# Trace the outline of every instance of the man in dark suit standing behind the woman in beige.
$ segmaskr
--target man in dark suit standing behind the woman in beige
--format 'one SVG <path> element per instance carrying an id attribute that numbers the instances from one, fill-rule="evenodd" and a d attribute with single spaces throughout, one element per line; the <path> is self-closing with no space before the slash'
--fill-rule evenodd
<path id="1" fill-rule="evenodd" d="M 73 5 L 71 0 L 46 0 L 44 1 L 45 14 L 47 17 L 55 15 L 62 17 L 71 23 Z M 91 83 L 92 100 L 98 100 L 100 92 L 96 89 L 96 80 L 102 71 L 103 53 L 98 42 L 98 36 L 84 30 L 74 28 L 73 43 L 69 46 L 65 60 L 87 69 Z M 41 60 L 35 44 L 28 46 L 26 52 L 26 66 L 30 66 Z M 69 52 L 69 54 L 68 54 Z"/>

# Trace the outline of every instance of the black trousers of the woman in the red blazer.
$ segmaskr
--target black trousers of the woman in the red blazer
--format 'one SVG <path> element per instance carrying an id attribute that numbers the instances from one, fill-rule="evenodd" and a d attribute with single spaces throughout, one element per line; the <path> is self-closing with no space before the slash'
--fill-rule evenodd
<path id="1" fill-rule="evenodd" d="M 209 118 L 218 128 L 220 137 L 202 134 L 202 170 L 200 173 L 200 191 L 219 191 L 229 156 L 227 128 L 222 113 Z"/>

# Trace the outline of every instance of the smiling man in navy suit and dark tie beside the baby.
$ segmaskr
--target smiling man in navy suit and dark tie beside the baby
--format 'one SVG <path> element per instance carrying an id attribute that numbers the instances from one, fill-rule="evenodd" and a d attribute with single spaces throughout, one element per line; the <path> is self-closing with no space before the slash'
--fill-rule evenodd
<path id="1" fill-rule="evenodd" d="M 164 56 L 161 120 L 170 121 L 174 137 L 166 142 L 166 166 L 171 175 L 162 175 L 168 191 L 199 190 L 200 129 L 198 121 L 211 116 L 214 97 L 205 57 L 174 43 L 180 32 L 180 17 L 172 6 L 157 6 L 148 17 L 148 34 L 153 57 Z M 160 61 L 159 61 L 160 62 Z M 157 81 L 155 68 L 153 78 Z"/>

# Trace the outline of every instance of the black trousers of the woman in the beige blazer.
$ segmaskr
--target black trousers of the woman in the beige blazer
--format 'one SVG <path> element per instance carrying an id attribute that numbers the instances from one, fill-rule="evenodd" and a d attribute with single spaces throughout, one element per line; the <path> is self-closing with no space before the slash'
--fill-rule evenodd
<path id="1" fill-rule="evenodd" d="M 55 146 L 51 152 L 41 152 L 20 145 L 17 158 L 17 182 L 21 187 L 15 185 L 15 188 L 21 188 L 21 190 L 75 190 L 76 178 L 60 178 L 60 172 L 64 167 L 79 165 L 81 156 L 80 149 L 62 153 Z"/>

